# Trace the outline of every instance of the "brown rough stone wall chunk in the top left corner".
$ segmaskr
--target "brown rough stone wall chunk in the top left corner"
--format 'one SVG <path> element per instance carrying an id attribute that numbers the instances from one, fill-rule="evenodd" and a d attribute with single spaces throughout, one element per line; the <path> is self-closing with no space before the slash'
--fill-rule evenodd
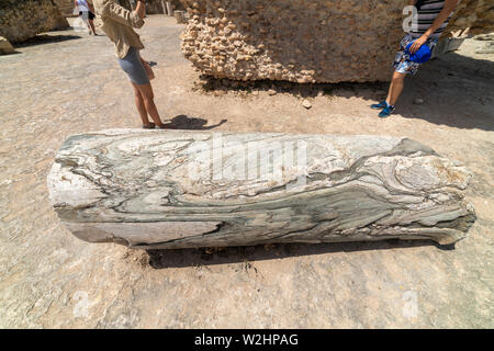
<path id="1" fill-rule="evenodd" d="M 0 0 L 0 36 L 11 43 L 68 26 L 52 0 Z"/>

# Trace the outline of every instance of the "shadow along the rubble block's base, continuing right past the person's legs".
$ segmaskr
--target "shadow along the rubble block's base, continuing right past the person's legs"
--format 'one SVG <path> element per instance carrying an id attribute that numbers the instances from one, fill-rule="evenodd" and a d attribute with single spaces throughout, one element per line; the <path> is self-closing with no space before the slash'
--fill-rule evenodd
<path id="1" fill-rule="evenodd" d="M 392 73 L 390 65 L 390 77 Z M 405 118 L 419 118 L 456 128 L 494 131 L 494 61 L 448 53 L 423 65 L 414 78 L 407 78 L 405 91 L 396 104 L 396 113 Z M 288 93 L 299 99 L 316 97 L 361 98 L 369 105 L 386 97 L 388 82 L 312 83 L 287 81 L 234 81 L 201 76 L 195 89 L 204 93 L 237 93 L 245 98 L 254 91 L 270 95 Z M 451 95 L 462 95 L 452 101 Z M 415 104 L 420 98 L 423 104 Z M 369 110 L 369 113 L 377 113 Z"/>

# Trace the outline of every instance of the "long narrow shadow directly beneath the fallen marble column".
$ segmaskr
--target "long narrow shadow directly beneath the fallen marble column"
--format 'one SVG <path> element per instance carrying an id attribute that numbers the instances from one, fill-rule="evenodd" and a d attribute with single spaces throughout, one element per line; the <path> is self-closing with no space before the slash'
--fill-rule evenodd
<path id="1" fill-rule="evenodd" d="M 440 250 L 452 250 L 453 245 L 440 246 L 431 240 L 382 240 L 373 242 L 333 242 L 333 244 L 276 244 L 246 247 L 201 248 L 180 250 L 146 250 L 148 263 L 154 269 L 214 265 L 226 263 L 283 259 L 289 257 L 324 254 L 332 252 L 351 252 L 366 250 L 391 250 L 435 246 Z M 434 248 L 430 248 L 434 250 Z"/>

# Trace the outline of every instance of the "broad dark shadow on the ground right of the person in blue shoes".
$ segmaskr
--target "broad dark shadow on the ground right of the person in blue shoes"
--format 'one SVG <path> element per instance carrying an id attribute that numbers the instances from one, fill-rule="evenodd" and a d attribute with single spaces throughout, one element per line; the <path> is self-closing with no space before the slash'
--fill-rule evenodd
<path id="1" fill-rule="evenodd" d="M 449 53 L 424 65 L 406 82 L 397 113 L 460 129 L 494 131 L 494 61 Z M 451 99 L 461 97 L 460 99 Z M 424 105 L 414 105 L 414 97 Z"/>

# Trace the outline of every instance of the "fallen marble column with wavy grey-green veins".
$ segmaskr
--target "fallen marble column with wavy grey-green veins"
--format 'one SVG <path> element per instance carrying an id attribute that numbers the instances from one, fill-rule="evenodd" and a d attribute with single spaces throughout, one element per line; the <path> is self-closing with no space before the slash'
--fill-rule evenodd
<path id="1" fill-rule="evenodd" d="M 450 245 L 475 219 L 470 178 L 406 138 L 111 129 L 67 139 L 48 189 L 61 222 L 90 242 Z"/>

